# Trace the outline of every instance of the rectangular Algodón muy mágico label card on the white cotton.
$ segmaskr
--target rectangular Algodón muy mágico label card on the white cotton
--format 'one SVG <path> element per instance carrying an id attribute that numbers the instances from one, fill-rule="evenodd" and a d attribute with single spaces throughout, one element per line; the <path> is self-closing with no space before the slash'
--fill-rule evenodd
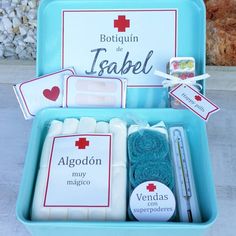
<path id="1" fill-rule="evenodd" d="M 54 137 L 44 207 L 109 207 L 111 134 Z"/>

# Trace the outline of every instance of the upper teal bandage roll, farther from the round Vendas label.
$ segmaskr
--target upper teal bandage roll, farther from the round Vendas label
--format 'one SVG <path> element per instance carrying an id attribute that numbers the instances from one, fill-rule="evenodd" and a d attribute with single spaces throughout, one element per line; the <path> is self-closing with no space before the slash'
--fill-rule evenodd
<path id="1" fill-rule="evenodd" d="M 164 160 L 169 144 L 164 134 L 150 129 L 131 133 L 128 138 L 128 154 L 131 163 Z"/>

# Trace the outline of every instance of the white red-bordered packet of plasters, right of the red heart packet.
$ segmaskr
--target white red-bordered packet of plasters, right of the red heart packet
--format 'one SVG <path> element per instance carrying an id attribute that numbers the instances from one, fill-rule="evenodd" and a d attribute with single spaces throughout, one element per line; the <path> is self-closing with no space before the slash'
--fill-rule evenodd
<path id="1" fill-rule="evenodd" d="M 119 78 L 66 76 L 64 107 L 124 108 L 127 81 Z"/>

